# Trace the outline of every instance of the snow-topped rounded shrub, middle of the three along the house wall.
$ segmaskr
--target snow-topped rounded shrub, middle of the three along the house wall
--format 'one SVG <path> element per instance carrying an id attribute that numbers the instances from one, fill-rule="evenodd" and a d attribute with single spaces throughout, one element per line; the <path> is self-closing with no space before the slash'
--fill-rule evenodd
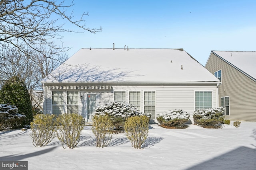
<path id="1" fill-rule="evenodd" d="M 174 109 L 156 114 L 156 119 L 160 125 L 167 127 L 185 127 L 185 123 L 189 120 L 189 113 L 182 109 Z"/>

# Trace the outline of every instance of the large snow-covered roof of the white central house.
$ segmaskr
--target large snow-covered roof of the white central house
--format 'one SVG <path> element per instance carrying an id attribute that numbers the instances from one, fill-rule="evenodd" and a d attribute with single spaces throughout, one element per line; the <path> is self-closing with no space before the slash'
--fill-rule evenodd
<path id="1" fill-rule="evenodd" d="M 83 48 L 42 82 L 216 83 L 219 80 L 183 49 Z"/>

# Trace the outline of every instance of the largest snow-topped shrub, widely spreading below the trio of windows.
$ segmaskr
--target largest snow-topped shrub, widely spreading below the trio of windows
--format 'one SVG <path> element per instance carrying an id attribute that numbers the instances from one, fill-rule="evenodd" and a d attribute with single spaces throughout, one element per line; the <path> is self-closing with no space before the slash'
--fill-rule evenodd
<path id="1" fill-rule="evenodd" d="M 128 117 L 146 115 L 148 121 L 151 117 L 151 113 L 142 113 L 132 104 L 124 102 L 109 102 L 108 104 L 98 106 L 95 109 L 94 115 L 108 115 L 116 130 L 122 129 Z"/>

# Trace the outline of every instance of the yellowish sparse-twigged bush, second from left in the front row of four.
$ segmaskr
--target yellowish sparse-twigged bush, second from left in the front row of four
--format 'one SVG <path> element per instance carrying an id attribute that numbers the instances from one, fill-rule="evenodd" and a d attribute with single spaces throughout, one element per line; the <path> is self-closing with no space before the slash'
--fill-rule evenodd
<path id="1" fill-rule="evenodd" d="M 57 118 L 59 124 L 57 137 L 69 149 L 74 149 L 80 141 L 81 131 L 84 129 L 84 118 L 76 113 L 62 114 Z M 64 148 L 65 149 L 65 148 Z"/>

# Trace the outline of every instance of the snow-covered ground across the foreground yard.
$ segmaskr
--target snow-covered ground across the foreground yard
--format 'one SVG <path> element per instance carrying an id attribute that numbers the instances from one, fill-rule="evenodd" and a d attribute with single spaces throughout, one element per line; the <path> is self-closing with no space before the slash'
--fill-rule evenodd
<path id="1" fill-rule="evenodd" d="M 134 149 L 124 133 L 96 148 L 90 126 L 78 147 L 63 149 L 58 139 L 34 147 L 27 131 L 0 132 L 0 160 L 26 160 L 29 170 L 256 170 L 256 122 L 222 129 L 189 125 L 164 129 L 150 124 L 144 149 Z"/>

